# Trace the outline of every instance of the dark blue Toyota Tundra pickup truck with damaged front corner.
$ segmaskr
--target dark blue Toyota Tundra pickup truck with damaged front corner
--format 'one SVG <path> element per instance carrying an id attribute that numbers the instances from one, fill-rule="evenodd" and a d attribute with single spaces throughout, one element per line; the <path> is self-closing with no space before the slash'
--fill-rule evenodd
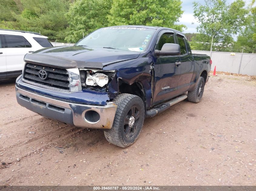
<path id="1" fill-rule="evenodd" d="M 101 28 L 75 46 L 44 48 L 24 60 L 16 80 L 20 105 L 62 123 L 104 129 L 123 148 L 138 138 L 145 117 L 186 98 L 200 102 L 211 69 L 210 57 L 193 55 L 184 34 L 148 26 Z"/>

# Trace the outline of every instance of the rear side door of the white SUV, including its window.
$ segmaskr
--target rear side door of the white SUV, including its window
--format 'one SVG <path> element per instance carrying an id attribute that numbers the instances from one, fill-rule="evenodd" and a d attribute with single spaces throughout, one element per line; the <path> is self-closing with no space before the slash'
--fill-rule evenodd
<path id="1" fill-rule="evenodd" d="M 25 64 L 24 56 L 31 51 L 31 44 L 21 35 L 4 34 L 3 37 L 6 47 L 7 72 L 21 71 Z"/>

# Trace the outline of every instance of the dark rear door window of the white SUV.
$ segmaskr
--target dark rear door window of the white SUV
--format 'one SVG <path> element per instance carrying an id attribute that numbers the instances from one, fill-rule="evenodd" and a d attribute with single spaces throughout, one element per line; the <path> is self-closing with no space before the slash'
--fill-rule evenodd
<path id="1" fill-rule="evenodd" d="M 23 36 L 20 35 L 9 35 L 5 34 L 5 42 L 8 48 L 30 48 L 32 47 L 31 44 L 25 39 Z"/>

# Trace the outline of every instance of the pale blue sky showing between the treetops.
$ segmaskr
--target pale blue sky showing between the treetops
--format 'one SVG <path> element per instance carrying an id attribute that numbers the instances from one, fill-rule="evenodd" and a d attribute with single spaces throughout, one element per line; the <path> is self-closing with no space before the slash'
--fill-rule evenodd
<path id="1" fill-rule="evenodd" d="M 182 10 L 184 13 L 180 18 L 178 24 L 185 24 L 188 29 L 184 30 L 183 33 L 196 33 L 196 27 L 199 25 L 198 21 L 193 16 L 193 2 L 199 2 L 200 4 L 204 4 L 204 0 L 181 0 L 182 1 Z M 244 0 L 248 5 L 251 0 Z M 231 4 L 234 0 L 227 0 L 228 4 Z M 192 24 L 192 22 L 194 24 Z"/>

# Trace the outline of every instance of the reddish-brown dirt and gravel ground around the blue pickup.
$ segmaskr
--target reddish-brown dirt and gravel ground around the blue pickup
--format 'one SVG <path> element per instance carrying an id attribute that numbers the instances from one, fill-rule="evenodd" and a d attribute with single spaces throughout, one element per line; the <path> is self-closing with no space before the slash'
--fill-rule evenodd
<path id="1" fill-rule="evenodd" d="M 0 185 L 256 185 L 256 80 L 218 75 L 198 104 L 145 119 L 128 148 L 45 119 L 0 81 Z"/>

